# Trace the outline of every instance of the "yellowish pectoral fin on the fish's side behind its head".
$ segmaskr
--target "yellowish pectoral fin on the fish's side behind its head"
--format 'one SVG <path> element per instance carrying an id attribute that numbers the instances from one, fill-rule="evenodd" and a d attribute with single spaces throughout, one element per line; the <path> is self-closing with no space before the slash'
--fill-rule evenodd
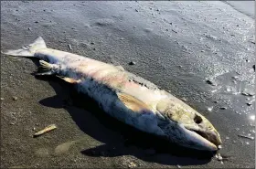
<path id="1" fill-rule="evenodd" d="M 146 105 L 143 101 L 138 100 L 129 94 L 118 92 L 117 96 L 123 104 L 132 111 L 153 110 L 151 106 Z"/>

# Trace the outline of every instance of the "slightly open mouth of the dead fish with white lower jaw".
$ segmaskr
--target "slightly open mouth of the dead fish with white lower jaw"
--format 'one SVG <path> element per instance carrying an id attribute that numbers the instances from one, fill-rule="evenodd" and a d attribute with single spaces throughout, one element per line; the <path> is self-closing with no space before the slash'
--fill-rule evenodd
<path id="1" fill-rule="evenodd" d="M 187 129 L 187 128 L 186 128 Z M 187 132 L 201 145 L 198 149 L 207 151 L 217 151 L 221 140 L 219 133 L 215 131 L 203 132 L 194 129 L 187 129 Z"/>

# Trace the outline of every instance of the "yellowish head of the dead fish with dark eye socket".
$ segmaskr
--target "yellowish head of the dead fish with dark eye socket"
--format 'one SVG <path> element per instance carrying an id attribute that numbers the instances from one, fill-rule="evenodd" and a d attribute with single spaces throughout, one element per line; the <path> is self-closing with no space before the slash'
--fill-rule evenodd
<path id="1" fill-rule="evenodd" d="M 162 100 L 157 104 L 162 115 L 158 126 L 167 140 L 182 146 L 217 151 L 221 144 L 219 132 L 208 119 L 181 100 Z"/>

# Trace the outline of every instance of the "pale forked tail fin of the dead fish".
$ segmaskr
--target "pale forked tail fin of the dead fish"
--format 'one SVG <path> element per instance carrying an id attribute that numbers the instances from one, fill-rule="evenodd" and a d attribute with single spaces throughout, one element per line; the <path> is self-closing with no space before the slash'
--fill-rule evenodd
<path id="1" fill-rule="evenodd" d="M 42 37 L 37 37 L 37 39 L 32 44 L 25 45 L 22 48 L 5 51 L 1 50 L 1 53 L 9 56 L 34 57 L 34 54 L 39 48 L 47 48 L 46 43 Z"/>

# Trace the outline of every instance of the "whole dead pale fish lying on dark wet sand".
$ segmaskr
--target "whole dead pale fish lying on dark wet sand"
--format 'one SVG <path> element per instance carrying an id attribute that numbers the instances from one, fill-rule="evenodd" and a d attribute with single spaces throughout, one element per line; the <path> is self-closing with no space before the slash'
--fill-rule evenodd
<path id="1" fill-rule="evenodd" d="M 47 48 L 42 37 L 23 48 L 1 52 L 39 58 L 43 71 L 37 72 L 38 76 L 55 75 L 72 83 L 79 92 L 96 100 L 103 111 L 140 131 L 198 150 L 217 151 L 221 144 L 219 132 L 202 114 L 171 93 L 117 66 Z"/>

